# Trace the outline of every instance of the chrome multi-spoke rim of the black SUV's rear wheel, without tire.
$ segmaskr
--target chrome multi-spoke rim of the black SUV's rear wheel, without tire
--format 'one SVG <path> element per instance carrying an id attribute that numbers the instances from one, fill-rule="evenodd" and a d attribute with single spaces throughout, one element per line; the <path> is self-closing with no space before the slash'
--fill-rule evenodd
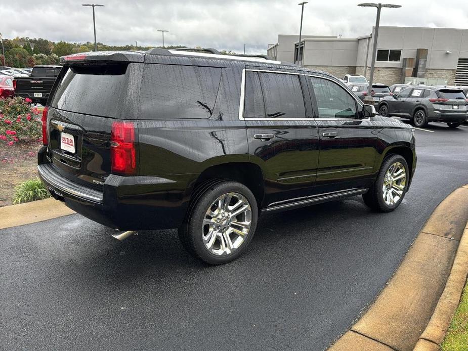
<path id="1" fill-rule="evenodd" d="M 216 199 L 206 211 L 201 233 L 206 249 L 226 256 L 238 249 L 248 235 L 252 210 L 239 193 L 227 193 Z"/>

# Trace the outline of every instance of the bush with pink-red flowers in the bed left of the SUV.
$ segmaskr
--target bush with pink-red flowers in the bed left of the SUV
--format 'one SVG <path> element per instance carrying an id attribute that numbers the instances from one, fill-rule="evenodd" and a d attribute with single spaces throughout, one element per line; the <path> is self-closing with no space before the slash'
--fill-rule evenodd
<path id="1" fill-rule="evenodd" d="M 26 100 L 0 98 L 0 143 L 11 146 L 21 140 L 40 138 L 41 113 Z"/>

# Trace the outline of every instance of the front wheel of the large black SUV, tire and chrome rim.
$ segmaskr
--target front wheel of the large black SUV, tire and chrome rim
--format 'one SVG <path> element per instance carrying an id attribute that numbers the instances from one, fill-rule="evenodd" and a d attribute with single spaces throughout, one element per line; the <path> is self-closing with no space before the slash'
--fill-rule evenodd
<path id="1" fill-rule="evenodd" d="M 382 162 L 375 183 L 362 195 L 364 203 L 376 211 L 393 211 L 406 194 L 408 174 L 408 164 L 403 156 L 387 157 Z"/>

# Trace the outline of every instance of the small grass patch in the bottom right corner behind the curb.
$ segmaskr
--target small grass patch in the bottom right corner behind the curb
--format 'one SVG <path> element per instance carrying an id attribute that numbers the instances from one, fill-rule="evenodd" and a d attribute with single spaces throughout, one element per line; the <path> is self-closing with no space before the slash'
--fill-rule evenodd
<path id="1" fill-rule="evenodd" d="M 460 304 L 450 323 L 450 328 L 441 345 L 443 351 L 461 351 L 468 349 L 468 281 L 466 282 Z"/>

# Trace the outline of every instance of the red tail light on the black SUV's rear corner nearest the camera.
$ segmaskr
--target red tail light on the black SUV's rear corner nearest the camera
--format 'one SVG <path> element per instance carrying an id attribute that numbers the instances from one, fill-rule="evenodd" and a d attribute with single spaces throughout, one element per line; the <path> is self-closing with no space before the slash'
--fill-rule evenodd
<path id="1" fill-rule="evenodd" d="M 129 175 L 137 169 L 135 150 L 135 125 L 127 121 L 115 121 L 111 131 L 111 169 Z"/>

